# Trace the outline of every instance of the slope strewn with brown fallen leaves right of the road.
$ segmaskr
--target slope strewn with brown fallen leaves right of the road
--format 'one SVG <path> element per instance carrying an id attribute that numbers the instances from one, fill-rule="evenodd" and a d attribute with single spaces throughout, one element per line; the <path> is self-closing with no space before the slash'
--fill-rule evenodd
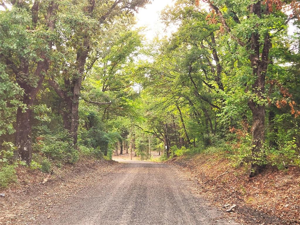
<path id="1" fill-rule="evenodd" d="M 190 177 L 197 192 L 221 208 L 236 204 L 229 216 L 242 224 L 300 224 L 300 170 L 269 168 L 249 178 L 246 168 L 234 168 L 217 154 L 199 154 L 167 161 Z"/>

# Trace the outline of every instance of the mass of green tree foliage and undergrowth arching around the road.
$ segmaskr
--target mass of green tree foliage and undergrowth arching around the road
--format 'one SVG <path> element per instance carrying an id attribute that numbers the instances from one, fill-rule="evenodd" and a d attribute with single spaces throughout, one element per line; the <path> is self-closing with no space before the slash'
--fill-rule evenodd
<path id="1" fill-rule="evenodd" d="M 32 114 L 30 168 L 45 173 L 51 164 L 80 157 L 111 159 L 117 142 L 131 145 L 142 159 L 161 149 L 160 160 L 203 152 L 235 166 L 300 165 L 298 22 L 290 21 L 296 32 L 289 35 L 289 18 L 275 5 L 268 11 L 262 4 L 259 16 L 248 10 L 253 1 L 215 0 L 216 14 L 179 0 L 162 14 L 166 25 L 178 25 L 176 32 L 145 44 L 132 28 L 133 12 L 147 2 L 120 1 L 111 8 L 113 1 L 95 1 L 89 15 L 85 0 L 57 1 L 53 30 L 44 16 L 49 1 L 39 3 L 36 23 L 34 1 L 0 10 L 0 166 L 7 168 L 1 172 L 7 182 L 14 174 L 10 165 L 24 165 L 14 155 L 17 110 Z M 253 36 L 258 58 L 270 46 L 266 60 L 259 59 L 268 62 L 263 82 L 251 63 Z M 38 74 L 44 58 L 49 68 Z M 265 108 L 265 141 L 254 154 L 259 107 Z M 77 119 L 76 145 L 69 123 Z"/>

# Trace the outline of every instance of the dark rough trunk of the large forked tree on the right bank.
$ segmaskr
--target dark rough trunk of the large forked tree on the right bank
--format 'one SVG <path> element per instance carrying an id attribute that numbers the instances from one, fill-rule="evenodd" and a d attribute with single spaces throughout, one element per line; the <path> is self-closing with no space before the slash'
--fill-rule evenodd
<path id="1" fill-rule="evenodd" d="M 259 30 L 259 24 L 256 24 L 256 27 L 253 27 L 253 33 L 251 38 L 247 43 L 242 42 L 239 38 L 235 37 L 231 34 L 231 29 L 228 26 L 225 17 L 223 16 L 220 9 L 213 4 L 212 1 L 208 0 L 208 4 L 213 8 L 218 16 L 220 17 L 220 22 L 223 24 L 224 28 L 227 30 L 229 35 L 233 40 L 237 41 L 237 43 L 241 46 L 246 47 L 246 49 L 251 52 L 249 56 L 249 60 L 251 62 L 252 74 L 255 79 L 252 87 L 247 87 L 247 91 L 251 88 L 252 94 L 258 97 L 259 100 L 262 101 L 253 101 L 251 98 L 248 101 L 248 106 L 252 112 L 253 116 L 253 125 L 252 125 L 252 165 L 251 165 L 251 173 L 250 177 L 255 176 L 260 173 L 265 167 L 265 156 L 263 143 L 265 141 L 265 104 L 264 104 L 264 94 L 265 94 L 265 73 L 269 64 L 268 54 L 271 48 L 271 37 L 267 33 L 263 44 L 260 43 L 260 37 L 257 30 Z M 262 10 L 261 4 L 262 1 L 256 1 L 256 3 L 251 4 L 249 6 L 250 13 L 253 13 L 257 17 L 261 18 L 261 13 L 268 15 L 270 13 L 269 7 L 272 4 L 269 4 L 269 0 L 265 2 L 265 7 Z M 234 18 L 235 21 L 238 21 L 238 18 Z M 261 50 L 261 47 L 262 51 Z M 255 98 L 256 99 L 256 98 Z"/>

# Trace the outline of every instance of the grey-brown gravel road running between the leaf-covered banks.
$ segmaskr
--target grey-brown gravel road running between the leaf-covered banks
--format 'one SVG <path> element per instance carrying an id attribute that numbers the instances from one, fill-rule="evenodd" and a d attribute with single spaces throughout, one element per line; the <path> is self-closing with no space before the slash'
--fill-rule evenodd
<path id="1" fill-rule="evenodd" d="M 220 219 L 223 212 L 192 193 L 192 184 L 175 167 L 123 162 L 30 224 L 237 224 Z"/>

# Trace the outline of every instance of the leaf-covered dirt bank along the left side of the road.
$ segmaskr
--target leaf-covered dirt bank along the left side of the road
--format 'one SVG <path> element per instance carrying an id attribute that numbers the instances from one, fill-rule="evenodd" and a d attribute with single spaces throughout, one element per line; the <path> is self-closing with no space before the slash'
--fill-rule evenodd
<path id="1" fill-rule="evenodd" d="M 0 224 L 20 224 L 56 208 L 65 199 L 89 184 L 95 184 L 101 177 L 119 164 L 112 160 L 82 159 L 74 165 L 53 167 L 53 175 L 17 168 L 17 183 L 0 189 L 5 196 L 0 198 Z M 47 215 L 51 216 L 51 215 Z"/>

